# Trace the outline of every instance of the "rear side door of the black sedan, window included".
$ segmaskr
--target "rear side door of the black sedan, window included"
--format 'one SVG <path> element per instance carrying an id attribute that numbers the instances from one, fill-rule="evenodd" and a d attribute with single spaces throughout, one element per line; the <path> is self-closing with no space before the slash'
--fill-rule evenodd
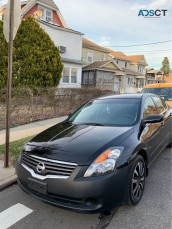
<path id="1" fill-rule="evenodd" d="M 158 114 L 163 116 L 163 123 L 161 128 L 162 139 L 160 145 L 160 149 L 163 149 L 171 139 L 171 115 L 170 112 L 168 112 L 169 109 L 164 100 L 158 96 L 152 96 L 152 99 L 157 106 Z"/>

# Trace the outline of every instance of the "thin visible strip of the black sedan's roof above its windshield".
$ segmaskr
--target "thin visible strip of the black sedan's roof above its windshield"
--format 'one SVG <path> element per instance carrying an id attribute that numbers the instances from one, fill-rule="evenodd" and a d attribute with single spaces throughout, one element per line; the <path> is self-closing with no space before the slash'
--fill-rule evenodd
<path id="1" fill-rule="evenodd" d="M 118 95 L 109 95 L 109 96 L 104 96 L 100 97 L 97 99 L 140 99 L 143 96 L 147 96 L 148 94 L 144 93 L 135 93 L 135 94 L 118 94 Z"/>

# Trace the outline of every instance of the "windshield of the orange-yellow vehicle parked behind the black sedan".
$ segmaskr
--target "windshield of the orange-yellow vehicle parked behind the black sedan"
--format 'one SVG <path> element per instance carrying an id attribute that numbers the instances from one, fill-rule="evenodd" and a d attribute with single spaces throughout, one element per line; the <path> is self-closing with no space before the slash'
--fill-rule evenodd
<path id="1" fill-rule="evenodd" d="M 172 101 L 172 88 L 144 88 L 143 93 L 159 95 L 165 101 Z"/>

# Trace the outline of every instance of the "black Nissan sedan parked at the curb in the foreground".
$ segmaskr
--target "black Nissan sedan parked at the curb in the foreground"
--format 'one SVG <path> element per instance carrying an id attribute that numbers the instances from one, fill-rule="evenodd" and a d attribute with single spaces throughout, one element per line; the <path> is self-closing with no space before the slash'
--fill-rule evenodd
<path id="1" fill-rule="evenodd" d="M 44 202 L 78 212 L 136 205 L 150 165 L 172 144 L 171 115 L 153 94 L 92 100 L 24 146 L 18 184 Z"/>

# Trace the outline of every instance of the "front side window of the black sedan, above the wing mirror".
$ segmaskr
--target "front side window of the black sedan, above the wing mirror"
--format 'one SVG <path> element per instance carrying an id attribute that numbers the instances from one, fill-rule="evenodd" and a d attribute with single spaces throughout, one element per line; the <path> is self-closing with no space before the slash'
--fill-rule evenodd
<path id="1" fill-rule="evenodd" d="M 144 103 L 144 111 L 143 116 L 144 118 L 150 116 L 150 115 L 156 115 L 158 114 L 157 107 L 155 106 L 155 103 L 153 102 L 152 98 L 149 96 L 146 98 Z"/>

